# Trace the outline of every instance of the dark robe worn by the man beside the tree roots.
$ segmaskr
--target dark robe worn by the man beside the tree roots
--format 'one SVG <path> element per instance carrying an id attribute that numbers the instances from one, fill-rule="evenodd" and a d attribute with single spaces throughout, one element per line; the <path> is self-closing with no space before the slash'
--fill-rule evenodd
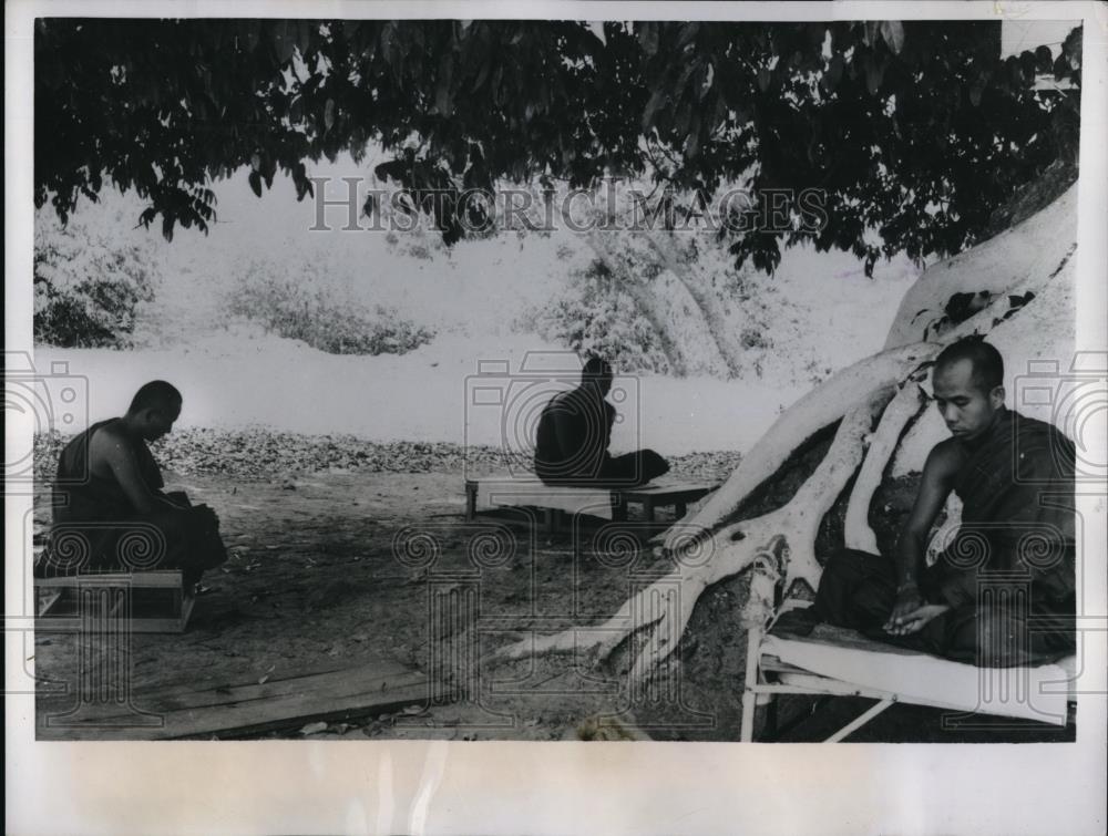
<path id="1" fill-rule="evenodd" d="M 929 603 L 950 609 L 917 633 L 889 634 L 882 628 L 896 600 L 895 561 L 848 549 L 824 567 L 812 617 L 983 667 L 1073 653 L 1073 442 L 1005 410 L 983 437 L 964 444 L 968 458 L 954 483 L 962 526 L 919 579 Z"/>

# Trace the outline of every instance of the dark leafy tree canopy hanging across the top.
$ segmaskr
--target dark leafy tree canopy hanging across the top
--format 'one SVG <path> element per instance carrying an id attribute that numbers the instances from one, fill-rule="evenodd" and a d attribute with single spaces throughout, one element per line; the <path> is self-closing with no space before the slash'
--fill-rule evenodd
<path id="1" fill-rule="evenodd" d="M 647 174 L 681 194 L 822 189 L 823 228 L 755 227 L 736 259 L 772 269 L 810 239 L 872 267 L 963 248 L 1077 148 L 1080 30 L 1057 59 L 1002 60 L 993 22 L 47 18 L 34 50 L 37 204 L 64 220 L 134 188 L 166 238 L 207 230 L 213 179 L 248 168 L 260 195 L 280 172 L 304 199 L 309 163 L 379 146 L 448 242 L 455 208 L 421 192 Z M 1044 74 L 1065 83 L 1035 89 Z"/>

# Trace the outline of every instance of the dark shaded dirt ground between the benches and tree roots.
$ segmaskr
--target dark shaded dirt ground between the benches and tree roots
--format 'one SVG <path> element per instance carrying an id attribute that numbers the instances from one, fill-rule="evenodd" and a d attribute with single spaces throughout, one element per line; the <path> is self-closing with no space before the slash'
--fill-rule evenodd
<path id="1" fill-rule="evenodd" d="M 495 662 L 521 637 L 598 623 L 668 567 L 633 517 L 619 531 L 550 535 L 526 517 L 464 518 L 462 477 L 450 473 L 317 473 L 294 482 L 166 474 L 171 488 L 216 508 L 230 551 L 205 575 L 183 634 L 132 637 L 135 703 L 145 690 L 197 681 L 242 684 L 336 662 L 391 660 L 461 689 L 445 704 L 331 723 L 314 739 L 731 741 L 739 736 L 745 577 L 702 595 L 674 664 L 642 687 L 626 647 L 603 664 L 574 654 Z M 47 522 L 45 496 L 37 523 Z M 665 514 L 665 512 L 661 512 Z M 576 545 L 575 545 L 576 543 Z M 72 636 L 34 640 L 37 711 L 76 682 Z M 73 698 L 69 698 L 71 701 Z M 784 740 L 818 740 L 865 701 L 782 705 L 800 723 Z M 823 731 L 825 729 L 825 731 Z M 300 737 L 298 727 L 266 736 Z M 942 712 L 894 706 L 852 740 L 1070 740 L 1073 729 L 950 731 Z"/>

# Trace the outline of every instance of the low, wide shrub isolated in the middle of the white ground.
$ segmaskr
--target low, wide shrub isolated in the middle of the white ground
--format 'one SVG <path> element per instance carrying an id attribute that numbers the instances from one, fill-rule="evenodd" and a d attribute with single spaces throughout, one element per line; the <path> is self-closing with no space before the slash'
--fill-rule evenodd
<path id="1" fill-rule="evenodd" d="M 250 262 L 230 292 L 228 312 L 328 354 L 406 354 L 434 339 L 434 331 L 394 309 L 342 298 L 319 281 L 318 270 L 306 268 L 300 280 L 286 273 L 268 261 Z"/>

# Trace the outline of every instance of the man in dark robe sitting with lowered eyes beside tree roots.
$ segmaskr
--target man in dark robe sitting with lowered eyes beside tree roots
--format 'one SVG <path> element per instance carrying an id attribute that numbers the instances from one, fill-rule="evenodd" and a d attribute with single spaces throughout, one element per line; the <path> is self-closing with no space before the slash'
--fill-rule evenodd
<path id="1" fill-rule="evenodd" d="M 1004 363 L 979 339 L 935 361 L 935 403 L 952 436 L 927 456 L 895 559 L 833 555 L 811 617 L 979 667 L 1040 664 L 1074 652 L 1074 444 L 1004 405 Z M 953 541 L 924 566 L 948 494 Z"/>

